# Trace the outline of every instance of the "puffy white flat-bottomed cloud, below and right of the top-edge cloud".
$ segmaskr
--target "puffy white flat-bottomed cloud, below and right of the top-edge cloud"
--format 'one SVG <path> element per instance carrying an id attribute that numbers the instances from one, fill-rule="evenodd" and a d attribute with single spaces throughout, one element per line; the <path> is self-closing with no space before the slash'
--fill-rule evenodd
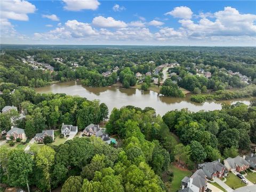
<path id="1" fill-rule="evenodd" d="M 123 28 L 127 26 L 127 24 L 124 21 L 115 20 L 112 17 L 105 18 L 102 16 L 93 18 L 92 23 L 94 26 L 104 27 L 104 28 L 108 28 L 108 27 Z"/>

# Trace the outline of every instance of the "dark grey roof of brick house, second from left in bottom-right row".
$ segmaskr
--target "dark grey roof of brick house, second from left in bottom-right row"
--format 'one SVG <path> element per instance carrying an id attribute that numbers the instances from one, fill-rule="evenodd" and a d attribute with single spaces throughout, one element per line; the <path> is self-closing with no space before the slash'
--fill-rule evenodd
<path id="1" fill-rule="evenodd" d="M 219 161 L 209 162 L 209 163 L 203 163 L 198 165 L 206 174 L 207 177 L 211 178 L 211 175 L 215 172 L 221 172 L 222 169 L 225 169 L 226 167 L 222 165 Z"/>

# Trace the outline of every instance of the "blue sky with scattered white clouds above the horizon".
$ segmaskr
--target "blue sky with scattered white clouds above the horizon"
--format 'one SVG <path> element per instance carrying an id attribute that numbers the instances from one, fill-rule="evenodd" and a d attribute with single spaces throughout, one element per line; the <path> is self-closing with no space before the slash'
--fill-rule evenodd
<path id="1" fill-rule="evenodd" d="M 256 46 L 256 1 L 1 0 L 3 44 Z"/>

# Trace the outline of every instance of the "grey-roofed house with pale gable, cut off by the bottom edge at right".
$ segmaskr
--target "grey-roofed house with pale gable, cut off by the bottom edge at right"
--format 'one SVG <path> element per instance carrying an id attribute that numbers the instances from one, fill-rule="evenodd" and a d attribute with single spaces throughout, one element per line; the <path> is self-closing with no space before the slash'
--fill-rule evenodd
<path id="1" fill-rule="evenodd" d="M 207 189 L 207 179 L 202 169 L 196 170 L 191 177 L 181 180 L 182 189 L 179 192 L 204 192 Z"/>

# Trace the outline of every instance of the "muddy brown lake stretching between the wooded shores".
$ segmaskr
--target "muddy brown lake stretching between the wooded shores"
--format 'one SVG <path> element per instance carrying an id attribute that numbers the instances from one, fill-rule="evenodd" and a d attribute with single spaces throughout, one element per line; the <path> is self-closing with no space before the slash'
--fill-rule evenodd
<path id="1" fill-rule="evenodd" d="M 138 89 L 124 89 L 118 86 L 110 87 L 86 87 L 80 82 L 56 83 L 45 87 L 36 88 L 37 93 L 66 93 L 68 95 L 79 95 L 88 100 L 98 99 L 106 103 L 109 112 L 114 108 L 132 105 L 145 108 L 152 107 L 157 114 L 164 115 L 167 111 L 187 108 L 190 111 L 221 109 L 221 102 L 195 103 L 190 101 L 190 94 L 186 98 L 170 98 L 159 95 L 154 91 L 141 92 Z M 239 99 L 225 101 L 235 103 L 237 101 L 249 105 L 250 99 Z"/>

